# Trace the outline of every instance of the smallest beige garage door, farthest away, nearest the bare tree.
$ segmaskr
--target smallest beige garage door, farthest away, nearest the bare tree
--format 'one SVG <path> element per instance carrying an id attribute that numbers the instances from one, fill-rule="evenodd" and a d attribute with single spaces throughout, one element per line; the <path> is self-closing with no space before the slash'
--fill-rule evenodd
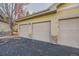
<path id="1" fill-rule="evenodd" d="M 29 27 L 29 25 L 20 25 L 19 26 L 19 36 L 29 38 L 28 27 Z"/>

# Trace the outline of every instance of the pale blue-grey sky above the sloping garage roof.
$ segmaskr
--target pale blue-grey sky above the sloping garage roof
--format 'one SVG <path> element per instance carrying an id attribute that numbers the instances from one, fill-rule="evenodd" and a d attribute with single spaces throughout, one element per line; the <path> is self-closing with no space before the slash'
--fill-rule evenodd
<path id="1" fill-rule="evenodd" d="M 52 3 L 30 3 L 27 6 L 24 6 L 24 10 L 26 11 L 29 10 L 30 13 L 33 13 L 33 12 L 45 10 L 51 5 Z"/>

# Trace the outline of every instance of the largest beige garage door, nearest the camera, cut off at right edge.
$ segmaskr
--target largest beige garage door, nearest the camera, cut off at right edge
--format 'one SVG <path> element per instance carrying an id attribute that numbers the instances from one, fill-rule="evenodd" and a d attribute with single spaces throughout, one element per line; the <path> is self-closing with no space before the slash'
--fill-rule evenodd
<path id="1" fill-rule="evenodd" d="M 79 48 L 79 19 L 60 20 L 58 43 Z"/>

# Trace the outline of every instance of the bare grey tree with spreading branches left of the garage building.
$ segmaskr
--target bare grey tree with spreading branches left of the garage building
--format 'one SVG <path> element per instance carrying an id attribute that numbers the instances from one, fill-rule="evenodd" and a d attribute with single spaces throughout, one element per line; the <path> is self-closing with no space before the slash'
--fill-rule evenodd
<path id="1" fill-rule="evenodd" d="M 14 24 L 14 20 L 16 19 L 15 3 L 1 3 L 0 9 L 5 14 L 4 16 L 6 17 L 6 20 L 9 23 L 11 34 L 12 34 L 12 30 L 13 30 L 12 27 Z"/>

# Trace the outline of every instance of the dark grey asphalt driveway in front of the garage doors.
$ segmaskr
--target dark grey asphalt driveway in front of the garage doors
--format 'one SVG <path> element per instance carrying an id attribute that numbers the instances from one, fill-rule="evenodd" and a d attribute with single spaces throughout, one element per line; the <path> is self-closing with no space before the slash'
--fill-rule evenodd
<path id="1" fill-rule="evenodd" d="M 72 56 L 79 49 L 36 41 L 28 38 L 12 38 L 0 41 L 0 56 Z"/>

